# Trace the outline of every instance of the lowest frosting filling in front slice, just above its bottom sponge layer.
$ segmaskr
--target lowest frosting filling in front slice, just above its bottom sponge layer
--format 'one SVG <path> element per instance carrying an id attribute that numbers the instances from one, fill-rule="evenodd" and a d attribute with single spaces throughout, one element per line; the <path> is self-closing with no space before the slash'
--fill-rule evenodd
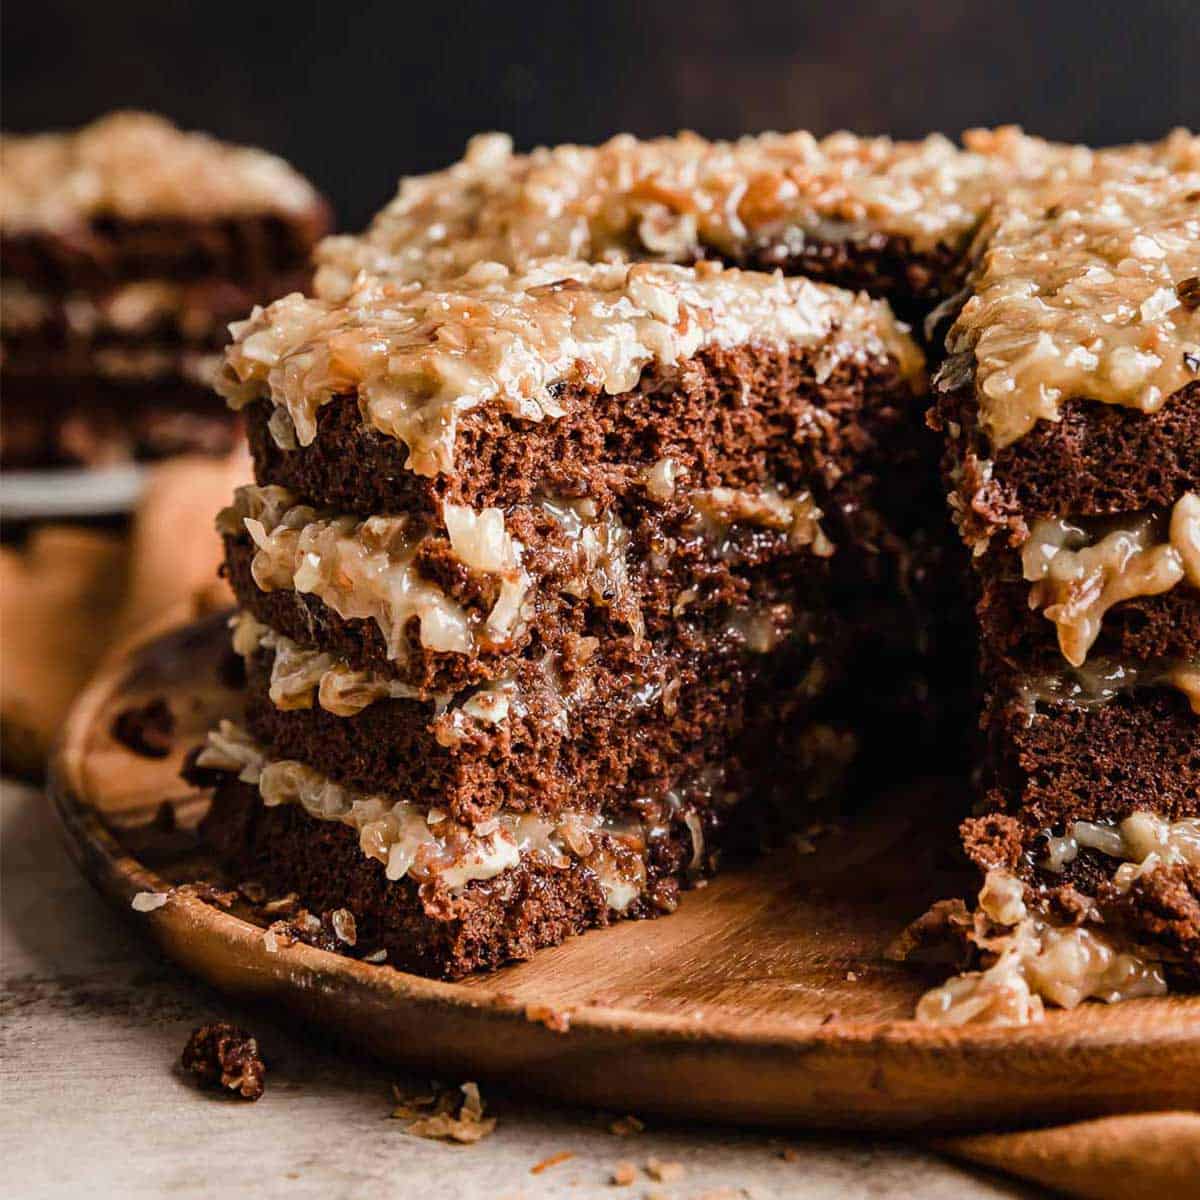
<path id="1" fill-rule="evenodd" d="M 451 893 L 534 858 L 558 869 L 589 869 L 608 907 L 624 912 L 646 890 L 650 845 L 667 832 L 677 814 L 686 821 L 692 836 L 694 866 L 703 858 L 698 820 L 671 799 L 654 821 L 584 811 L 554 816 L 500 812 L 464 826 L 436 808 L 422 810 L 408 802 L 391 803 L 343 787 L 305 763 L 271 761 L 230 721 L 222 721 L 209 733 L 197 763 L 234 773 L 256 785 L 269 806 L 299 804 L 319 821 L 349 826 L 358 834 L 362 853 L 382 863 L 389 880 L 440 883 Z"/>

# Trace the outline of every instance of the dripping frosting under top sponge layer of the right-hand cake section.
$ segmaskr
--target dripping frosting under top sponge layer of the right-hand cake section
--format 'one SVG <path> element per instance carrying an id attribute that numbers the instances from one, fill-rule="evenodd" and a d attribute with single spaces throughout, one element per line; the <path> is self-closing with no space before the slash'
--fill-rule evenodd
<path id="1" fill-rule="evenodd" d="M 1186 493 L 1169 516 L 1121 520 L 1103 536 L 1088 532 L 1093 521 L 1039 521 L 1021 547 L 1030 607 L 1055 623 L 1062 655 L 1076 667 L 1114 605 L 1180 583 L 1200 588 L 1200 494 Z"/>

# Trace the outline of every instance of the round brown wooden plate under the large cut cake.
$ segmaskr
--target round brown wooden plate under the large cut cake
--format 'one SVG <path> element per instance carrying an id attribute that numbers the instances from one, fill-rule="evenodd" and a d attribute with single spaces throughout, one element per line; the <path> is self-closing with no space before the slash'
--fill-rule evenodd
<path id="1" fill-rule="evenodd" d="M 931 901 L 970 888 L 948 832 L 964 798 L 940 816 L 946 797 L 932 784 L 816 838 L 810 853 L 719 875 L 671 917 L 461 983 L 301 943 L 271 953 L 252 917 L 193 889 L 134 912 L 139 892 L 214 877 L 192 832 L 206 797 L 179 770 L 236 710 L 227 654 L 216 616 L 110 660 L 67 722 L 52 791 L 89 878 L 167 955 L 233 996 L 438 1079 L 614 1112 L 941 1130 L 1200 1103 L 1200 996 L 1087 1003 L 1020 1028 L 911 1019 L 940 976 L 888 961 L 884 947 Z M 163 757 L 113 736 L 120 712 L 156 697 L 175 718 Z"/>

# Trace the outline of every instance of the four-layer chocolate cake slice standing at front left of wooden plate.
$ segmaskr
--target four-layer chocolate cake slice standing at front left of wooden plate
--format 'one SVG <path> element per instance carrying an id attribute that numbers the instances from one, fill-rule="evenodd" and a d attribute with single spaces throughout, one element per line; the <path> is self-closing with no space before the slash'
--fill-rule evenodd
<path id="1" fill-rule="evenodd" d="M 221 382 L 259 482 L 220 521 L 247 704 L 197 758 L 210 838 L 434 974 L 670 911 L 779 751 L 852 755 L 820 714 L 871 553 L 842 512 L 922 379 L 883 305 L 715 264 L 257 312 Z"/>

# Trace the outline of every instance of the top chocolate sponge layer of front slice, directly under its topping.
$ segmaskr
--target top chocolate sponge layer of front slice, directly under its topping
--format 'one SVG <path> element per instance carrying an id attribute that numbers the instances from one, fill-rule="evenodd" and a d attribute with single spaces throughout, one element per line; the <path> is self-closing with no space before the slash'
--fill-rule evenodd
<path id="1" fill-rule="evenodd" d="M 406 469 L 403 443 L 365 425 L 352 396 L 317 413 L 308 445 L 281 448 L 265 402 L 247 409 L 259 482 L 280 484 L 347 512 L 527 504 L 538 496 L 599 503 L 638 484 L 664 458 L 680 486 L 784 490 L 839 481 L 870 485 L 881 462 L 912 463 L 932 451 L 923 403 L 894 360 L 868 358 L 829 371 L 810 349 L 706 348 L 671 367 L 647 367 L 637 388 L 610 395 L 564 383 L 556 420 L 522 421 L 496 408 L 460 419 L 452 474 Z M 354 462 L 354 472 L 346 463 Z"/>

